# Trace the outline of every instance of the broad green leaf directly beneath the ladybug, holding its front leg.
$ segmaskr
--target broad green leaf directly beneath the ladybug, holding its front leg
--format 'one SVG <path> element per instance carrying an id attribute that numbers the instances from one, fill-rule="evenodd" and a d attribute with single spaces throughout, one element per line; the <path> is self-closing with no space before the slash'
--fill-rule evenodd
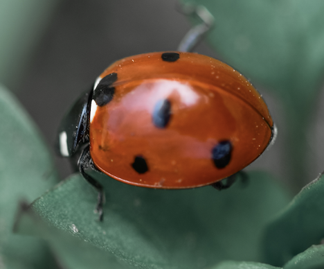
<path id="1" fill-rule="evenodd" d="M 100 223 L 93 213 L 96 191 L 80 175 L 73 175 L 35 200 L 32 208 L 51 226 L 129 265 L 206 268 L 224 259 L 258 260 L 264 225 L 287 205 L 286 193 L 268 174 L 250 173 L 249 179 L 248 186 L 237 182 L 219 192 L 210 186 L 145 189 L 105 177 L 107 202 L 105 220 Z M 78 245 L 69 248 L 57 236 L 43 236 L 50 238 L 62 260 L 71 252 L 66 249 L 78 252 L 79 257 L 85 252 L 83 246 L 80 251 Z"/>

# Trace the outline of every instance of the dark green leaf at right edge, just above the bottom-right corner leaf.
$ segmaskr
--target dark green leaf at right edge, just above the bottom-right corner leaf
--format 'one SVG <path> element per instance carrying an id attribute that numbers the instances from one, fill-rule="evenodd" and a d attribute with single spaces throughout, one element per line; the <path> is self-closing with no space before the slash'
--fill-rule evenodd
<path id="1" fill-rule="evenodd" d="M 264 236 L 264 256 L 282 266 L 296 254 L 324 237 L 324 176 L 303 188 L 288 207 L 269 225 Z"/>

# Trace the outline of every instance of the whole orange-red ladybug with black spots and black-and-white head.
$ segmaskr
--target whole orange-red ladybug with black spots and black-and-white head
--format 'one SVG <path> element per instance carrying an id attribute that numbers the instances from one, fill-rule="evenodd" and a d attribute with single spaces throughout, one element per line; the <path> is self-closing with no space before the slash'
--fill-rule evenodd
<path id="1" fill-rule="evenodd" d="M 189 52 L 135 55 L 111 64 L 66 114 L 58 150 L 78 168 L 154 189 L 213 185 L 257 159 L 276 128 L 266 103 L 224 62 Z"/>

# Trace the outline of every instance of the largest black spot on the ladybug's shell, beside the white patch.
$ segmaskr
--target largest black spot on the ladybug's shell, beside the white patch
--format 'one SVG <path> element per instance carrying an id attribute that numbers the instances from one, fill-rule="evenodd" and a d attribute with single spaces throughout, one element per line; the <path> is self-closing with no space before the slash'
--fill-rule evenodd
<path id="1" fill-rule="evenodd" d="M 111 87 L 117 80 L 117 73 L 109 73 L 109 75 L 105 76 L 100 80 L 96 89 L 93 90 L 93 100 L 96 101 L 96 104 L 100 107 L 107 105 L 112 98 L 114 98 L 115 88 Z"/>

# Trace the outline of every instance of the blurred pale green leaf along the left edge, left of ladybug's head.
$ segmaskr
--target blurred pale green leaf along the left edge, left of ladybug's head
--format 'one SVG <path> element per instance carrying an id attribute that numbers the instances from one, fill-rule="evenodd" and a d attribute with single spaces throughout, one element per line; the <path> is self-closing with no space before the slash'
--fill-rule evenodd
<path id="1" fill-rule="evenodd" d="M 56 176 L 35 125 L 1 86 L 0 125 L 0 267 L 53 268 L 43 241 L 12 234 L 19 202 L 33 201 L 55 184 Z"/>

